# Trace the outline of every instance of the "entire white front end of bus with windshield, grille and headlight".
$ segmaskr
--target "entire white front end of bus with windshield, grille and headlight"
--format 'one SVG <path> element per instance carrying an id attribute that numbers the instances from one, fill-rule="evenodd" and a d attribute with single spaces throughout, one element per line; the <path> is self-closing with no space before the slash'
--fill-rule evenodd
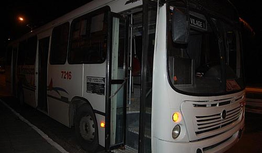
<path id="1" fill-rule="evenodd" d="M 228 1 L 180 0 L 162 4 L 158 15 L 152 150 L 225 152 L 244 129 L 245 81 L 236 12 Z"/>

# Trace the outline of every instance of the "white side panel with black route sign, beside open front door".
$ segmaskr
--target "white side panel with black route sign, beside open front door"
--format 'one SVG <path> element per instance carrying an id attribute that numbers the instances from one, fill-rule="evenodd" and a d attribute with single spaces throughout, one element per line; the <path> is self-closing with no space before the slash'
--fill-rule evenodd
<path id="1" fill-rule="evenodd" d="M 95 112 L 105 113 L 105 78 L 106 62 L 102 64 L 85 64 L 83 77 L 83 97 L 86 98 Z M 100 122 L 105 121 L 105 116 L 95 114 L 98 126 L 99 144 L 105 146 L 105 128 L 100 127 Z"/>

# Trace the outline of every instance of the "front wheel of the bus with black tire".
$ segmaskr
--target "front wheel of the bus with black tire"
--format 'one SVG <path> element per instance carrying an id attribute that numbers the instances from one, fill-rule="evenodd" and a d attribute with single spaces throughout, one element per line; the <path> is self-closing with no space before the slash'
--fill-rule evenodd
<path id="1" fill-rule="evenodd" d="M 75 134 L 84 150 L 96 151 L 99 146 L 97 130 L 97 121 L 93 109 L 88 104 L 81 105 L 76 113 Z"/>

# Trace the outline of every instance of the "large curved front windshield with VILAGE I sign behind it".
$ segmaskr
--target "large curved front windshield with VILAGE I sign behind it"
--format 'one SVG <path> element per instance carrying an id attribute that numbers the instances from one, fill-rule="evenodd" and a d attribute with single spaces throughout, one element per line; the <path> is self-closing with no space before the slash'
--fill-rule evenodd
<path id="1" fill-rule="evenodd" d="M 177 21 L 172 13 L 168 19 L 168 73 L 175 89 L 215 95 L 244 88 L 239 33 L 233 26 L 189 11 L 188 43 L 179 44 L 172 40 Z"/>

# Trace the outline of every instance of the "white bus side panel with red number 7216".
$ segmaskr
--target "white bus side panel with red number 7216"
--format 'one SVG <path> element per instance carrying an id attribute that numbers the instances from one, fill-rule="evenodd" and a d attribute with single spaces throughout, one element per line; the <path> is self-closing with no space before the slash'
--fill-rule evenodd
<path id="1" fill-rule="evenodd" d="M 82 64 L 48 66 L 48 114 L 66 126 L 69 126 L 68 103 L 74 96 L 82 96 L 82 78 Z"/>

